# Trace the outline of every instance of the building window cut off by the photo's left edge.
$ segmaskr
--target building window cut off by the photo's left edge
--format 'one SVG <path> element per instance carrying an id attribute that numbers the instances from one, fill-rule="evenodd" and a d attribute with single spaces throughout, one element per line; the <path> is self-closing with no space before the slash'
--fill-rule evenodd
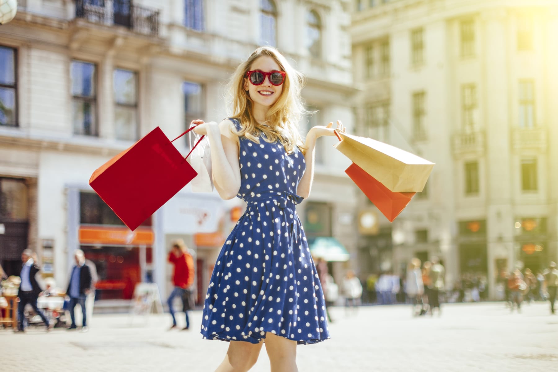
<path id="1" fill-rule="evenodd" d="M 17 54 L 0 46 L 0 125 L 17 127 Z"/>

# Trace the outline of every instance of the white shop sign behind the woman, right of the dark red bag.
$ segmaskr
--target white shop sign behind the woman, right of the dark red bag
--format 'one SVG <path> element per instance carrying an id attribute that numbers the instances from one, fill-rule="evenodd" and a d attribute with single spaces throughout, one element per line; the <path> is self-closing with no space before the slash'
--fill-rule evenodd
<path id="1" fill-rule="evenodd" d="M 201 194 L 176 194 L 163 206 L 166 234 L 213 233 L 225 212 L 221 199 Z"/>

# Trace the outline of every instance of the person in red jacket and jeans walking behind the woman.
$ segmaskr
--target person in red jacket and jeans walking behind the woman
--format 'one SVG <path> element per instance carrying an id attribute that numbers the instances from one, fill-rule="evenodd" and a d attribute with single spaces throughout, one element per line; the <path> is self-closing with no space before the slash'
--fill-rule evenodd
<path id="1" fill-rule="evenodd" d="M 186 327 L 182 329 L 187 330 L 190 328 L 188 310 L 191 310 L 192 294 L 190 287 L 194 284 L 194 258 L 188 253 L 188 248 L 182 239 L 176 240 L 172 244 L 172 249 L 169 253 L 169 262 L 174 264 L 174 273 L 172 274 L 174 289 L 172 289 L 169 299 L 167 300 L 169 311 L 172 316 L 172 326 L 170 329 L 177 327 L 172 301 L 176 296 L 180 296 L 182 305 L 184 306 L 184 315 L 186 316 Z"/>

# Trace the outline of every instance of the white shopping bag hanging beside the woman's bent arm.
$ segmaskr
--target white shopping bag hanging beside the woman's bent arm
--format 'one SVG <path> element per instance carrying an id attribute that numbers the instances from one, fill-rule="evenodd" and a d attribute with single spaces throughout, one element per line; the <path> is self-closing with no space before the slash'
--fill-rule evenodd
<path id="1" fill-rule="evenodd" d="M 192 141 L 194 135 L 194 141 Z M 198 142 L 200 136 L 190 131 L 188 134 L 188 142 L 190 148 L 192 144 Z M 192 192 L 213 192 L 213 177 L 211 177 L 211 149 L 209 147 L 209 139 L 201 141 L 188 157 L 188 161 L 194 170 L 198 173 L 193 180 L 190 181 Z"/>

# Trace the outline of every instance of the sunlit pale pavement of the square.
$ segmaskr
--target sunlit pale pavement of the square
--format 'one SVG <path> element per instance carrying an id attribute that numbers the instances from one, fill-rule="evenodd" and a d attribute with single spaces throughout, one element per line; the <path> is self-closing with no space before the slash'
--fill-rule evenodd
<path id="1" fill-rule="evenodd" d="M 299 346 L 306 371 L 558 371 L 558 316 L 547 303 L 511 313 L 503 303 L 444 304 L 441 317 L 410 306 L 332 308 L 331 340 Z M 227 343 L 167 330 L 170 315 L 95 315 L 89 332 L 0 330 L 0 371 L 213 371 Z M 183 319 L 182 319 L 183 321 Z M 180 324 L 179 324 L 180 325 Z M 253 371 L 268 371 L 262 349 Z"/>

